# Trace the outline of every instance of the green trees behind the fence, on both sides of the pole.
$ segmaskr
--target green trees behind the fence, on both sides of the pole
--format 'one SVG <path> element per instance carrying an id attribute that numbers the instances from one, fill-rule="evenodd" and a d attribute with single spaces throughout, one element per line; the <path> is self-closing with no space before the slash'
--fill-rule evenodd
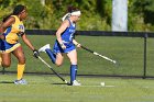
<path id="1" fill-rule="evenodd" d="M 154 1 L 128 0 L 129 31 L 154 31 Z M 28 7 L 26 29 L 56 30 L 68 5 L 82 12 L 78 30 L 111 31 L 112 0 L 0 0 L 0 20 L 14 5 Z"/>

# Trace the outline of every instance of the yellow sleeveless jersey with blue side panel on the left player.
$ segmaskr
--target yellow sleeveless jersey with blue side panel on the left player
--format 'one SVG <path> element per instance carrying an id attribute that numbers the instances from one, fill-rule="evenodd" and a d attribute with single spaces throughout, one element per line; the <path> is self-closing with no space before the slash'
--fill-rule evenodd
<path id="1" fill-rule="evenodd" d="M 15 44 L 21 33 L 24 33 L 23 22 L 16 15 L 11 15 L 15 22 L 4 31 L 6 41 L 9 44 Z"/>

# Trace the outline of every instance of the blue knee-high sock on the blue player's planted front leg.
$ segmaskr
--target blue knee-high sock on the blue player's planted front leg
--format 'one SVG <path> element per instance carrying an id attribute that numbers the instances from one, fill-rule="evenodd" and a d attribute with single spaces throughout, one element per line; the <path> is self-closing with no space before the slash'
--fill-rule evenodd
<path id="1" fill-rule="evenodd" d="M 76 80 L 77 65 L 70 65 L 70 83 Z"/>

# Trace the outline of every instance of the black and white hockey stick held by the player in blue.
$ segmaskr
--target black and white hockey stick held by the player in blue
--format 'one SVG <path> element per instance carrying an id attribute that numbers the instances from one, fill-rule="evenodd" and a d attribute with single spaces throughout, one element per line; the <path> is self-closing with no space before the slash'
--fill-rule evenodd
<path id="1" fill-rule="evenodd" d="M 111 58 L 109 58 L 109 57 L 107 57 L 107 56 L 100 55 L 100 54 L 98 54 L 98 53 L 96 53 L 96 52 L 94 52 L 94 50 L 91 50 L 91 49 L 89 49 L 89 48 L 87 48 L 87 47 L 85 47 L 85 46 L 80 46 L 80 47 L 81 47 L 82 49 L 89 52 L 89 53 L 92 53 L 92 54 L 96 55 L 96 56 L 99 56 L 99 57 L 101 57 L 101 58 L 103 58 L 103 59 L 106 59 L 106 60 L 109 60 L 109 61 L 111 61 L 111 63 L 113 63 L 113 64 L 117 64 L 116 60 L 113 60 L 113 59 L 111 59 Z"/>

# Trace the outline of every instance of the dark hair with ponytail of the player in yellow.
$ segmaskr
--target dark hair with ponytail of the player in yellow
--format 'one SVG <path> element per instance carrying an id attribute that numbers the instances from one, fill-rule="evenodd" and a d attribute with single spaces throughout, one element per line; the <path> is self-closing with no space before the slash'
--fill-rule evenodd
<path id="1" fill-rule="evenodd" d="M 18 14 L 20 14 L 24 9 L 25 9 L 24 5 L 18 4 L 14 8 L 14 10 L 13 10 L 13 12 L 11 14 L 9 14 L 9 15 L 7 15 L 7 16 L 3 18 L 2 22 L 6 22 L 11 15 L 18 15 Z"/>

